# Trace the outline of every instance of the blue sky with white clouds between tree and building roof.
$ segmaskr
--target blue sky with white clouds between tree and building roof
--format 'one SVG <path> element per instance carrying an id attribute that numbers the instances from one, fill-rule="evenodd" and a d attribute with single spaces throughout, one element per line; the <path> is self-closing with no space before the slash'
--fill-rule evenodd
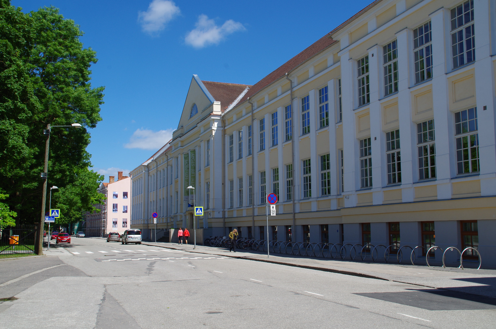
<path id="1" fill-rule="evenodd" d="M 90 131 L 95 170 L 126 175 L 177 128 L 192 74 L 254 84 L 367 6 L 354 1 L 12 0 L 24 12 L 60 8 L 97 52 L 105 86 Z"/>

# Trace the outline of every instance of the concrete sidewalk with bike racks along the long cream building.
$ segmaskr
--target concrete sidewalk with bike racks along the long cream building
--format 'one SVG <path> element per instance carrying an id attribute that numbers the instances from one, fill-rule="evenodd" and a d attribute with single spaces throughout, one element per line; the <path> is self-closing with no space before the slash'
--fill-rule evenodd
<path id="1" fill-rule="evenodd" d="M 366 263 L 280 254 L 270 255 L 267 258 L 266 254 L 239 249 L 237 253 L 232 253 L 225 248 L 198 245 L 193 250 L 193 245 L 158 242 L 143 242 L 143 244 L 185 252 L 277 263 L 380 280 L 410 283 L 431 288 L 456 290 L 496 298 L 496 270 L 493 269 L 463 270 L 456 267 L 443 268 L 441 266 L 428 267 L 427 265 Z"/>

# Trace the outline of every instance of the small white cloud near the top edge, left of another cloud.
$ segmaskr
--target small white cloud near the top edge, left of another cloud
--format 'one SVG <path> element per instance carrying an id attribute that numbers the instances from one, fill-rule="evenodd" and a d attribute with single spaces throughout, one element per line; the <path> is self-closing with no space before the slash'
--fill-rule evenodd
<path id="1" fill-rule="evenodd" d="M 174 16 L 181 13 L 179 7 L 171 0 L 153 0 L 147 11 L 138 12 L 138 21 L 144 32 L 156 33 L 162 31 Z"/>

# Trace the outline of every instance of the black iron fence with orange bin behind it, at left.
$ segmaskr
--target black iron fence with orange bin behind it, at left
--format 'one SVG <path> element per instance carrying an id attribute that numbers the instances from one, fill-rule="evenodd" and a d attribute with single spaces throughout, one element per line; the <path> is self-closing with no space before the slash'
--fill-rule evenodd
<path id="1" fill-rule="evenodd" d="M 0 230 L 0 254 L 34 254 L 36 226 L 23 225 Z"/>

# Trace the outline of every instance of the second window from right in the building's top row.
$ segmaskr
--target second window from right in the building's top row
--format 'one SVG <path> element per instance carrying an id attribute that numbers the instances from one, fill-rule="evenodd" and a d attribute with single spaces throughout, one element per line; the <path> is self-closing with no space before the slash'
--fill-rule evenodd
<path id="1" fill-rule="evenodd" d="M 413 62 L 415 83 L 433 77 L 433 46 L 431 22 L 413 30 Z"/>

